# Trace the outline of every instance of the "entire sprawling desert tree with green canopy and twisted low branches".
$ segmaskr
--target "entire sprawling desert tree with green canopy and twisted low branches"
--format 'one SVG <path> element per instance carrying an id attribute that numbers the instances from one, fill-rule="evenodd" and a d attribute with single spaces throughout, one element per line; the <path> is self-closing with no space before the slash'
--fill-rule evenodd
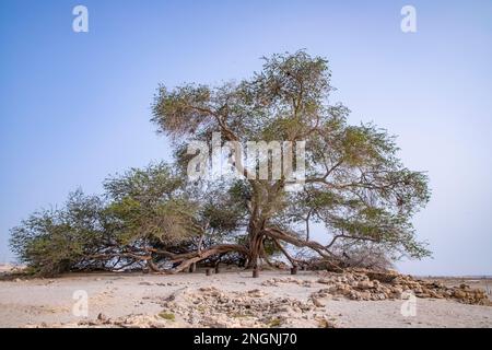
<path id="1" fill-rule="evenodd" d="M 328 103 L 330 77 L 327 60 L 297 51 L 265 58 L 259 73 L 239 82 L 160 86 L 152 121 L 171 137 L 175 162 L 130 170 L 106 179 L 103 197 L 77 191 L 62 209 L 31 215 L 12 229 L 12 249 L 46 275 L 176 273 L 222 258 L 256 268 L 279 254 L 293 266 L 315 258 L 336 267 L 430 255 L 411 224 L 430 198 L 426 175 L 403 166 L 386 130 L 350 125 L 350 110 Z M 230 149 L 237 176 L 190 178 L 196 154 L 187 145 L 210 147 L 218 131 L 220 145 L 279 141 L 283 154 L 267 149 L 251 162 L 246 148 Z M 285 162 L 302 145 L 300 183 L 300 160 Z M 280 159 L 288 165 L 273 176 Z M 263 168 L 270 175 L 258 176 Z M 313 223 L 325 228 L 323 242 L 312 240 Z"/>

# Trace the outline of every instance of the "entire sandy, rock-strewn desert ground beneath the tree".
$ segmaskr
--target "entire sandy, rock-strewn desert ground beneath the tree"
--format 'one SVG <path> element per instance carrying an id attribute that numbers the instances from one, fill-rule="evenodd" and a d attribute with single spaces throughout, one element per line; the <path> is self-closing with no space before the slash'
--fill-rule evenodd
<path id="1" fill-rule="evenodd" d="M 492 327 L 488 285 L 370 271 L 69 275 L 0 281 L 0 326 Z"/>

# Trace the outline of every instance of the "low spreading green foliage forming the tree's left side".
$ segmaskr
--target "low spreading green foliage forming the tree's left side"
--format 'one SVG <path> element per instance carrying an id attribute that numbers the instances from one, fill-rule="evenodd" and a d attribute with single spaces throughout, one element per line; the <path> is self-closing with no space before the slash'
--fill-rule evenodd
<path id="1" fill-rule="evenodd" d="M 12 250 L 44 276 L 139 266 L 151 248 L 173 249 L 196 236 L 196 205 L 181 184 L 157 164 L 106 180 L 107 200 L 78 190 L 62 209 L 34 213 L 13 228 Z"/>

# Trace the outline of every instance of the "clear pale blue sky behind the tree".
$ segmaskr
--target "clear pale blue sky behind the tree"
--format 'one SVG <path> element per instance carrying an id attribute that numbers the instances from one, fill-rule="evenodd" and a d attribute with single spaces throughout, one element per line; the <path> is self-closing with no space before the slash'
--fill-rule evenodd
<path id="1" fill-rule="evenodd" d="M 89 9 L 89 33 L 72 9 Z M 417 33 L 400 10 L 417 9 Z M 9 229 L 108 174 L 168 159 L 159 83 L 220 83 L 261 56 L 330 61 L 331 102 L 398 135 L 433 197 L 414 220 L 420 275 L 492 275 L 492 1 L 0 1 L 0 260 Z"/>

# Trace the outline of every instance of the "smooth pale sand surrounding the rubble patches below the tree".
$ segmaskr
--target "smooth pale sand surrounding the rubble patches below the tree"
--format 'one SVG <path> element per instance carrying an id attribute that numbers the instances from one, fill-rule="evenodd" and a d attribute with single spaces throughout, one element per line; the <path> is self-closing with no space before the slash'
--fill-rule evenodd
<path id="1" fill-rule="evenodd" d="M 104 319 L 128 317 L 156 319 L 159 317 L 155 315 L 162 314 L 163 311 L 174 313 L 174 310 L 169 308 L 172 307 L 169 300 L 174 300 L 174 304 L 187 306 L 188 310 L 200 307 L 200 302 L 190 302 L 191 299 L 187 296 L 197 298 L 200 293 L 203 294 L 203 290 L 220 291 L 224 298 L 244 296 L 250 293 L 255 299 L 243 298 L 242 300 L 255 301 L 255 303 L 268 301 L 282 303 L 294 300 L 298 301 L 301 303 L 298 306 L 303 308 L 309 295 L 323 288 L 316 282 L 319 276 L 315 272 L 303 271 L 293 277 L 307 281 L 306 283 L 283 283 L 280 287 L 262 284 L 271 278 L 290 278 L 290 275 L 282 271 L 263 271 L 260 278 L 253 279 L 250 272 L 244 271 L 224 271 L 211 277 L 207 277 L 203 272 L 177 276 L 92 273 L 69 275 L 57 279 L 0 281 L 0 327 L 39 325 L 74 327 L 97 319 L 99 314 L 103 314 L 99 318 Z M 464 281 L 473 288 L 484 288 L 485 283 L 492 285 L 490 280 L 445 279 L 442 281 L 448 285 L 456 285 Z M 87 316 L 75 316 L 73 308 L 80 311 L 77 299 L 84 293 L 89 298 Z M 285 300 L 282 301 L 282 299 Z M 415 313 L 402 314 L 402 307 L 408 310 L 408 304 L 403 305 L 406 302 L 408 303 L 405 300 L 351 301 L 344 298 L 330 298 L 324 301 L 320 307 L 302 313 L 288 313 L 286 317 L 290 320 L 285 323 L 285 327 L 320 327 L 327 324 L 335 327 L 492 327 L 491 306 L 417 299 L 412 304 Z M 160 326 L 221 326 L 216 317 L 214 320 L 208 320 L 209 324 L 192 324 L 179 316 L 176 319 L 174 317 L 173 314 L 173 319 L 165 322 L 161 319 Z M 166 318 L 171 317 L 166 316 Z M 243 326 L 248 325 L 250 324 L 243 324 Z M 277 324 L 271 324 L 271 326 Z"/>

